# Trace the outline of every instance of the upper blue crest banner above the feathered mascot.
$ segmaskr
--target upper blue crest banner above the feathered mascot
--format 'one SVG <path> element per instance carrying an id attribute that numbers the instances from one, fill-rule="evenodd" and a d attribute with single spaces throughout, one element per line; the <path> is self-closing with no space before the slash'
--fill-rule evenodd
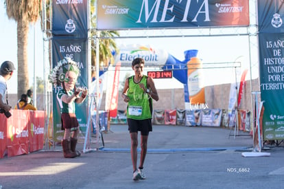
<path id="1" fill-rule="evenodd" d="M 55 36 L 88 36 L 87 0 L 53 0 L 52 34 Z"/>

